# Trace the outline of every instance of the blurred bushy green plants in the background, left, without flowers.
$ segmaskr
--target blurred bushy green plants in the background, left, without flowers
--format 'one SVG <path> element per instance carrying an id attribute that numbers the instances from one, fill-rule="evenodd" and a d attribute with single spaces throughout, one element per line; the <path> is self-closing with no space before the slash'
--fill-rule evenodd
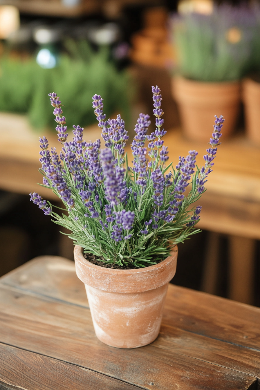
<path id="1" fill-rule="evenodd" d="M 109 60 L 109 48 L 94 51 L 86 41 L 65 43 L 68 54 L 61 54 L 57 67 L 43 69 L 35 58 L 0 61 L 0 111 L 28 113 L 35 128 L 55 129 L 53 110 L 48 94 L 62 96 L 67 126 L 96 123 L 92 96 L 105 100 L 109 118 L 121 111 L 129 119 L 131 83 L 127 71 L 118 71 Z"/>

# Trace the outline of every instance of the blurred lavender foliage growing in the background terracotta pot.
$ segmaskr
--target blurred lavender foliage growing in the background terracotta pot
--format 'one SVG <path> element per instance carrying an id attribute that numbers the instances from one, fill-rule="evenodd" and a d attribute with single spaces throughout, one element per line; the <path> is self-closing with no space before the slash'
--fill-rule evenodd
<path id="1" fill-rule="evenodd" d="M 212 14 L 172 20 L 182 76 L 204 82 L 238 80 L 250 69 L 256 18 L 246 5 L 215 6 Z"/>

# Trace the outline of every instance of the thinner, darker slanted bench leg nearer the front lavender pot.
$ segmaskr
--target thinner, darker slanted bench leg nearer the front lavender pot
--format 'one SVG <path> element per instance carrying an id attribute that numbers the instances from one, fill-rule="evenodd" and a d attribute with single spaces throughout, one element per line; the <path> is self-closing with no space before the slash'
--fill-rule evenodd
<path id="1" fill-rule="evenodd" d="M 218 282 L 219 233 L 208 232 L 201 290 L 216 294 Z"/>

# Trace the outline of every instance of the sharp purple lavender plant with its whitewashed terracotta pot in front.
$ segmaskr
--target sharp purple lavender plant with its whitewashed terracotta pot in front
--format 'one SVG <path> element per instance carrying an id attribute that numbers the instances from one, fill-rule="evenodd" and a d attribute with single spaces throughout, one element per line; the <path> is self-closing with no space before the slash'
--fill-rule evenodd
<path id="1" fill-rule="evenodd" d="M 106 121 L 99 95 L 93 96 L 93 107 L 105 140 L 103 150 L 100 140 L 83 140 L 80 126 L 73 126 L 73 142 L 67 142 L 62 104 L 51 93 L 63 146 L 59 157 L 55 149 L 48 150 L 48 140 L 40 138 L 40 171 L 42 185 L 60 197 L 65 213 L 58 215 L 50 202 L 30 194 L 55 223 L 71 230 L 76 273 L 85 283 L 96 335 L 120 348 L 144 346 L 159 333 L 168 282 L 176 270 L 177 244 L 199 232 L 195 225 L 201 206 L 191 205 L 205 191 L 224 122 L 216 117 L 204 167 L 195 168 L 198 153 L 191 150 L 175 169 L 167 164 L 162 140 L 166 131 L 161 129 L 160 89 L 152 87 L 152 92 L 156 130 L 147 134 L 149 115 L 141 113 L 131 144 L 133 167 L 124 152 L 129 138 L 124 121 L 120 115 Z"/>

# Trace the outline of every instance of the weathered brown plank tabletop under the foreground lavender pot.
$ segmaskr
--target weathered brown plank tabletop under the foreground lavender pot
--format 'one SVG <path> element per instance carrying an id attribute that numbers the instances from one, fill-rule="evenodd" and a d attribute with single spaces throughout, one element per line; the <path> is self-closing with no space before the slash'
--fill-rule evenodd
<path id="1" fill-rule="evenodd" d="M 117 349 L 94 333 L 74 262 L 0 278 L 0 389 L 258 389 L 260 309 L 169 285 L 159 337 Z M 258 383 L 258 385 L 257 385 Z"/>

